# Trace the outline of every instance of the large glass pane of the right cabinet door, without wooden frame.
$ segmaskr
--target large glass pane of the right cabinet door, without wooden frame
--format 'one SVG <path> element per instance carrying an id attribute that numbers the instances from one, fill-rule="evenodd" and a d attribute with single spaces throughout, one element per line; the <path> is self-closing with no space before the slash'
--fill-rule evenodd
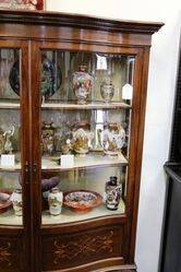
<path id="1" fill-rule="evenodd" d="M 135 57 L 41 50 L 41 224 L 125 215 Z"/>

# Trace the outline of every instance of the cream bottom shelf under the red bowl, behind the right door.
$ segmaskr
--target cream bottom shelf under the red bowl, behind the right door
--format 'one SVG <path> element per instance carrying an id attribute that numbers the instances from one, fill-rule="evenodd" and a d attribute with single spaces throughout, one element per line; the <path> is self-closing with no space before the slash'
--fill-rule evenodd
<path id="1" fill-rule="evenodd" d="M 79 214 L 70 211 L 69 209 L 62 208 L 62 213 L 60 215 L 53 216 L 49 214 L 49 211 L 43 212 L 43 225 L 58 225 L 67 224 L 80 221 L 86 221 L 102 216 L 121 215 L 125 213 L 125 204 L 123 200 L 120 201 L 119 209 L 117 211 L 109 211 L 105 204 L 94 208 L 90 212 Z"/>

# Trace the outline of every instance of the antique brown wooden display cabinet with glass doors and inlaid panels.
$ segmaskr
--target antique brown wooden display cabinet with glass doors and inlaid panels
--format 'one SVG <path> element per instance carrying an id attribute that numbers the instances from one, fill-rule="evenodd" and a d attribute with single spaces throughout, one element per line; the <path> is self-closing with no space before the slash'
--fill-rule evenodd
<path id="1" fill-rule="evenodd" d="M 135 271 L 161 23 L 0 11 L 0 271 Z"/>

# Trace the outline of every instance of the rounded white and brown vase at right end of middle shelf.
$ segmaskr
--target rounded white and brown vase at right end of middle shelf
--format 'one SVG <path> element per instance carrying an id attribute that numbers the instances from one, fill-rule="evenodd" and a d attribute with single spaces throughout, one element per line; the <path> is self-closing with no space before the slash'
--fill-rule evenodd
<path id="1" fill-rule="evenodd" d="M 106 155 L 118 155 L 124 144 L 125 131 L 116 122 L 108 123 L 104 130 L 98 130 L 98 139 Z"/>

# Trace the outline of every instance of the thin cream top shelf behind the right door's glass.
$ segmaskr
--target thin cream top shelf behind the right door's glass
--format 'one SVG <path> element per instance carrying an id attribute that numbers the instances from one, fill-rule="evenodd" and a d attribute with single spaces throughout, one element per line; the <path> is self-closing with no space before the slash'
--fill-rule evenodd
<path id="1" fill-rule="evenodd" d="M 41 109 L 129 109 L 131 106 L 121 102 L 101 103 L 95 102 L 90 104 L 80 105 L 71 103 L 44 103 Z"/>

